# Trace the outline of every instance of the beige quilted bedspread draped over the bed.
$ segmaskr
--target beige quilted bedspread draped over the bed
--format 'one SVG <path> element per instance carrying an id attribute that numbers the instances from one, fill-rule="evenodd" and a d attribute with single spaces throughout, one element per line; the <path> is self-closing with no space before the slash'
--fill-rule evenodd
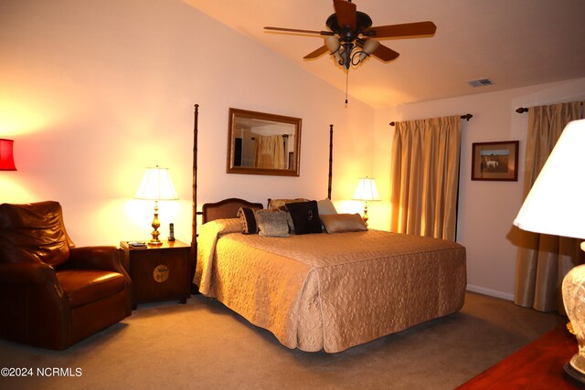
<path id="1" fill-rule="evenodd" d="M 337 353 L 463 307 L 459 244 L 377 230 L 223 234 L 215 222 L 200 231 L 194 282 L 289 348 Z"/>

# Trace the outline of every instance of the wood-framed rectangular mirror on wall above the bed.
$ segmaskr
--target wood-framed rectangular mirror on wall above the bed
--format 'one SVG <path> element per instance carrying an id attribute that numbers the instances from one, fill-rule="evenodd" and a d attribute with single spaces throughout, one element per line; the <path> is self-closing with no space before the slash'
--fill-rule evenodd
<path id="1" fill-rule="evenodd" d="M 229 109 L 228 174 L 298 176 L 301 118 Z"/>

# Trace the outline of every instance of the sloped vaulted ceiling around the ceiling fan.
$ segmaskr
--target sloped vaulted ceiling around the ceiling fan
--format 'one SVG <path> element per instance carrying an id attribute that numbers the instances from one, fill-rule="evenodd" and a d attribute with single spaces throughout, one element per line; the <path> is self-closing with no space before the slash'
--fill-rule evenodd
<path id="1" fill-rule="evenodd" d="M 264 26 L 326 30 L 332 0 L 184 0 L 201 12 L 346 90 L 346 72 L 323 37 L 268 32 Z M 386 26 L 431 20 L 434 37 L 383 39 L 399 58 L 367 58 L 349 70 L 349 94 L 375 108 L 585 77 L 584 0 L 354 0 Z M 208 38 L 208 37 L 207 37 Z M 494 84 L 473 88 L 468 81 Z M 342 96 L 342 94 L 340 94 Z M 342 98 L 340 98 L 342 99 Z"/>

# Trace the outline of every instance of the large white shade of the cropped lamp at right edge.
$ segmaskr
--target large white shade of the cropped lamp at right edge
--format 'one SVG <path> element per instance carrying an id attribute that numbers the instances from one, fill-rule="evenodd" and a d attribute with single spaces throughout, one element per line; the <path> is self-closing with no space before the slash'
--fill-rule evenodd
<path id="1" fill-rule="evenodd" d="M 562 132 L 514 225 L 585 238 L 585 120 L 569 122 Z"/>

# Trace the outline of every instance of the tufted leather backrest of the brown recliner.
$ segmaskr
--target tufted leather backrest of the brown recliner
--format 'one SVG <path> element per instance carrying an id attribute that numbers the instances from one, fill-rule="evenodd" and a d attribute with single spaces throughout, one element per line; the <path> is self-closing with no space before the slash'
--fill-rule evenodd
<path id="1" fill-rule="evenodd" d="M 58 267 L 69 259 L 69 241 L 58 202 L 0 205 L 0 261 Z"/>

